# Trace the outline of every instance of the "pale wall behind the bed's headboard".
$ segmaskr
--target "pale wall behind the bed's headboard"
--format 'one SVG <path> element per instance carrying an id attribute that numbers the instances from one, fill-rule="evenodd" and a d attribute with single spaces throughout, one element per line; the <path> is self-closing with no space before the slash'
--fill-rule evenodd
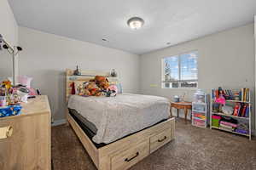
<path id="1" fill-rule="evenodd" d="M 19 57 L 20 75 L 33 77 L 32 87 L 49 96 L 55 120 L 64 118 L 66 68 L 119 72 L 125 92 L 138 92 L 139 56 L 89 42 L 19 27 L 23 47 Z"/>

